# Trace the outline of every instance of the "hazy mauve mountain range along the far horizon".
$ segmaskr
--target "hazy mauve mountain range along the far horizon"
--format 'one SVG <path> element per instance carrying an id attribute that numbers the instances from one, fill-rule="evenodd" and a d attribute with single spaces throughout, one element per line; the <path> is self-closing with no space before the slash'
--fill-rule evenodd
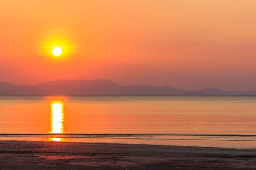
<path id="1" fill-rule="evenodd" d="M 169 86 L 118 85 L 110 79 L 64 80 L 37 85 L 13 85 L 0 82 L 0 95 L 256 95 L 256 91 L 222 91 L 204 88 L 186 91 Z"/>

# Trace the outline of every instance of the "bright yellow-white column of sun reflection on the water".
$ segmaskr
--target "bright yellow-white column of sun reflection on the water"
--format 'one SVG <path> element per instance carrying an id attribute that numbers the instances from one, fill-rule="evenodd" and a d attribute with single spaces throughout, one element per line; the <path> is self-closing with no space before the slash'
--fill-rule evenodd
<path id="1" fill-rule="evenodd" d="M 61 134 L 64 133 L 64 102 L 53 101 L 50 104 L 50 131 L 49 133 Z M 63 138 L 51 137 L 51 141 L 61 142 Z"/>

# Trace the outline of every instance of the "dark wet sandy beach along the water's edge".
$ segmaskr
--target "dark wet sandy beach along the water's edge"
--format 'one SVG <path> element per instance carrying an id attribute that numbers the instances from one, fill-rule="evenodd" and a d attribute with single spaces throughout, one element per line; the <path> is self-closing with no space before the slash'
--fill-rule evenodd
<path id="1" fill-rule="evenodd" d="M 0 141 L 0 170 L 256 169 L 256 150 L 69 142 Z"/>

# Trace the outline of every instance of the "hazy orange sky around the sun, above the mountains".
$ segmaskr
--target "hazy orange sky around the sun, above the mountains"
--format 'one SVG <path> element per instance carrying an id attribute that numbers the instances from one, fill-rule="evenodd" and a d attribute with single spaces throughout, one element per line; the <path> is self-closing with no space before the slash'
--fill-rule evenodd
<path id="1" fill-rule="evenodd" d="M 255 16 L 256 0 L 0 0 L 0 81 L 256 90 Z"/>

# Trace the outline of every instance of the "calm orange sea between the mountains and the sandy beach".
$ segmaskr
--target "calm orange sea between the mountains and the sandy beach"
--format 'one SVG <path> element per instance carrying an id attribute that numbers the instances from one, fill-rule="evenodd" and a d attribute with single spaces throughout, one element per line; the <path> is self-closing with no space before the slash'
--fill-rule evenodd
<path id="1" fill-rule="evenodd" d="M 256 149 L 256 96 L 0 96 L 0 140 Z"/>

